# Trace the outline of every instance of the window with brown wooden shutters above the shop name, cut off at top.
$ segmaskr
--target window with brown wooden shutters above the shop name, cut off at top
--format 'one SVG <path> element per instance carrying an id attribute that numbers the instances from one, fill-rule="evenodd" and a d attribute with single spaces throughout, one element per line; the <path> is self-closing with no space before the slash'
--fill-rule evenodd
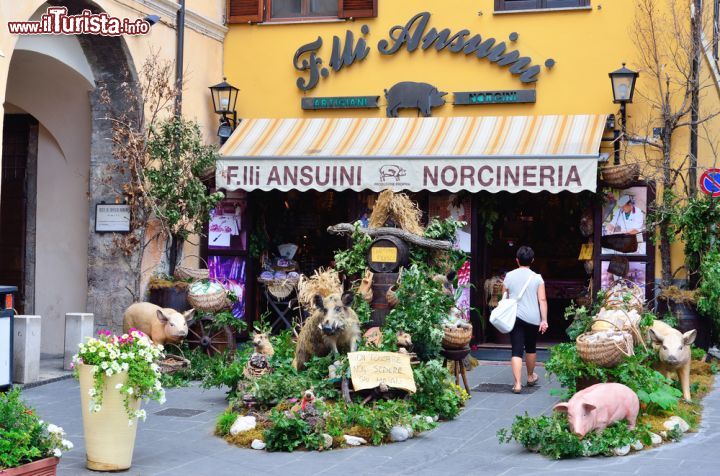
<path id="1" fill-rule="evenodd" d="M 227 0 L 227 23 L 373 18 L 377 0 Z"/>

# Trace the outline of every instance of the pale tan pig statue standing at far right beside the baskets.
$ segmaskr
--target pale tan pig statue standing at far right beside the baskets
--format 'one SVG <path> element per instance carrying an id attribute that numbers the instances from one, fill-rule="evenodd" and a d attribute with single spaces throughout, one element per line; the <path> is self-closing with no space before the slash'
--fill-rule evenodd
<path id="1" fill-rule="evenodd" d="M 671 372 L 676 372 L 682 388 L 683 398 L 691 400 L 690 396 L 690 346 L 695 342 L 696 330 L 687 331 L 685 334 L 670 327 L 662 321 L 653 321 L 652 327 L 648 330 L 653 348 L 658 351 L 660 357 L 660 372 L 669 377 Z"/>

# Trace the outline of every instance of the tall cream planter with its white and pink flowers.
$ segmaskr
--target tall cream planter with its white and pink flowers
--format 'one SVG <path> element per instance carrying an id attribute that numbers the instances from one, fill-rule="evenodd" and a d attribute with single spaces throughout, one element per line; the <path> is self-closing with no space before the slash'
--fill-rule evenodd
<path id="1" fill-rule="evenodd" d="M 100 331 L 80 344 L 73 358 L 80 380 L 87 467 L 118 471 L 132 463 L 138 419 L 145 420 L 142 400 L 165 401 L 160 384 L 162 346 L 136 329 L 122 336 Z"/>

